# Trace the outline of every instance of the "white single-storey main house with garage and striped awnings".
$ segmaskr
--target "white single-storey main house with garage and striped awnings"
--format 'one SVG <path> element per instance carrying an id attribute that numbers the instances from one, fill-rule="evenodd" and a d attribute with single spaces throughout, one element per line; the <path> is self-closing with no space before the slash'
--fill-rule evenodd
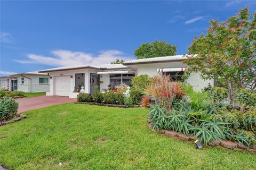
<path id="1" fill-rule="evenodd" d="M 93 93 L 97 85 L 100 91 L 105 91 L 107 85 L 111 87 L 119 84 L 131 84 L 134 76 L 148 74 L 152 77 L 155 74 L 170 75 L 172 80 L 181 79 L 187 66 L 181 62 L 186 60 L 186 56 L 166 56 L 156 58 L 143 58 L 139 60 L 126 61 L 124 64 L 76 65 L 57 67 L 39 71 L 50 75 L 49 96 L 69 96 L 76 97 L 73 91 L 78 87 L 84 87 L 86 93 Z M 211 84 L 214 80 L 203 80 L 200 73 L 191 74 L 186 80 L 197 91 Z"/>

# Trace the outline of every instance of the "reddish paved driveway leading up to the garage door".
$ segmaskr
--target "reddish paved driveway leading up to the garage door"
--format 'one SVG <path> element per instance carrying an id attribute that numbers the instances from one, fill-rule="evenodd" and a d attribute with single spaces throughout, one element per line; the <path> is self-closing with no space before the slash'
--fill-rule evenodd
<path id="1" fill-rule="evenodd" d="M 19 103 L 18 112 L 20 113 L 46 106 L 72 103 L 76 101 L 76 99 L 63 96 L 38 96 L 31 98 L 19 98 L 16 99 L 16 101 Z"/>

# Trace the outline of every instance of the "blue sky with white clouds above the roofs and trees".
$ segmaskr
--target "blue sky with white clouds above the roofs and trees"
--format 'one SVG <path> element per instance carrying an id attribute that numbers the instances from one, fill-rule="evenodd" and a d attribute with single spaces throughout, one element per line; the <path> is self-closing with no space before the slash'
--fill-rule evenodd
<path id="1" fill-rule="evenodd" d="M 0 75 L 131 60 L 142 43 L 165 40 L 187 53 L 211 19 L 255 1 L 1 1 Z"/>

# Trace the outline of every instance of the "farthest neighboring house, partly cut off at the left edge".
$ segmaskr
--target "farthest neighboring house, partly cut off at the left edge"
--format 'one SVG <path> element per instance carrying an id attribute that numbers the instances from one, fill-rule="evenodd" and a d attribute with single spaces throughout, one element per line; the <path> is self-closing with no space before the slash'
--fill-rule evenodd
<path id="1" fill-rule="evenodd" d="M 17 91 L 17 77 L 0 77 L 0 89 L 8 89 L 9 91 Z"/>

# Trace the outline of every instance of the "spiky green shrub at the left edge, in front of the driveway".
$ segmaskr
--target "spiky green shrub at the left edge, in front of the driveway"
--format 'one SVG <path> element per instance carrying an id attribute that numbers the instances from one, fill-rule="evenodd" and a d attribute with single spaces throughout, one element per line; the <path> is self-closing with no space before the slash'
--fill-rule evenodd
<path id="1" fill-rule="evenodd" d="M 17 116 L 19 104 L 12 98 L 0 100 L 0 121 L 9 120 Z"/>

